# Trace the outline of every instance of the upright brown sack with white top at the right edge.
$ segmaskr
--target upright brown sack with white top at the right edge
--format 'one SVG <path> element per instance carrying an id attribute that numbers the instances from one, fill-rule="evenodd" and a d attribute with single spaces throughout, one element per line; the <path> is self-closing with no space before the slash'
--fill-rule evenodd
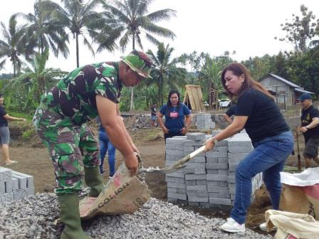
<path id="1" fill-rule="evenodd" d="M 300 174 L 281 172 L 282 211 L 309 214 L 319 221 L 319 168 L 310 168 Z"/>

